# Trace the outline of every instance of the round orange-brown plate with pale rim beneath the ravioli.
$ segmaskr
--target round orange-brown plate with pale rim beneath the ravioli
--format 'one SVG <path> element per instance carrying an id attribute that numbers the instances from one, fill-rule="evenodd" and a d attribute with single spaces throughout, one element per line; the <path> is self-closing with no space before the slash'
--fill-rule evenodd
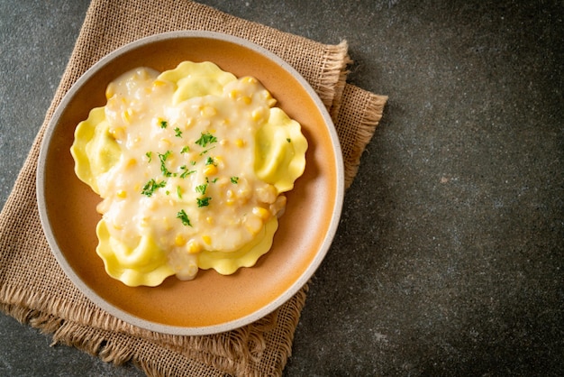
<path id="1" fill-rule="evenodd" d="M 159 287 L 127 287 L 110 278 L 96 254 L 100 198 L 77 179 L 70 146 L 77 124 L 105 105 L 105 87 L 136 67 L 163 71 L 184 60 L 212 61 L 235 76 L 254 76 L 302 124 L 304 175 L 287 194 L 271 250 L 229 276 L 199 271 Z M 168 32 L 107 55 L 77 80 L 54 113 L 41 144 L 37 198 L 50 248 L 88 299 L 135 326 L 174 335 L 205 335 L 248 325 L 300 290 L 323 261 L 336 232 L 344 192 L 341 147 L 332 120 L 305 78 L 250 41 L 215 32 Z"/>

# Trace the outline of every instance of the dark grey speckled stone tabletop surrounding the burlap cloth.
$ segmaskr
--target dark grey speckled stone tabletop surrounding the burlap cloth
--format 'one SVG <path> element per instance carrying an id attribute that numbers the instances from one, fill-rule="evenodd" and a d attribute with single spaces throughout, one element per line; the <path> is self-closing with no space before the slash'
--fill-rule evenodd
<path id="1" fill-rule="evenodd" d="M 203 1 L 350 43 L 390 97 L 285 375 L 564 374 L 561 1 Z M 0 203 L 86 1 L 0 0 Z M 0 315 L 1 375 L 140 375 Z"/>

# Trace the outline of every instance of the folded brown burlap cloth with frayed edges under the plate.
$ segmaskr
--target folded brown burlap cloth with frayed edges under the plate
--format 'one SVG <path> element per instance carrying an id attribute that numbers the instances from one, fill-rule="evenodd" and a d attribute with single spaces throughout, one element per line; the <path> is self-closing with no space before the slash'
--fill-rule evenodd
<path id="1" fill-rule="evenodd" d="M 95 0 L 68 67 L 0 215 L 0 308 L 113 363 L 132 361 L 149 375 L 280 375 L 291 354 L 304 287 L 275 312 L 228 333 L 169 336 L 123 323 L 97 308 L 67 279 L 41 231 L 35 197 L 42 135 L 69 87 L 105 54 L 159 32 L 210 30 L 254 41 L 287 60 L 330 110 L 349 186 L 387 97 L 346 84 L 347 44 L 324 45 L 188 1 Z"/>

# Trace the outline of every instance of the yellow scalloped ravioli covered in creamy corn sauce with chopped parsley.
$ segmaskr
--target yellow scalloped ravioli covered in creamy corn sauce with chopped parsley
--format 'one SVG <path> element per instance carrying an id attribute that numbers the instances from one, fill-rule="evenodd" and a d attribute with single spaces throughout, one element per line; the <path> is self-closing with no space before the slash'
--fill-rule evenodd
<path id="1" fill-rule="evenodd" d="M 111 82 L 77 125 L 77 177 L 101 198 L 96 253 L 128 286 L 232 274 L 267 253 L 305 170 L 301 126 L 256 78 L 185 61 Z"/>

